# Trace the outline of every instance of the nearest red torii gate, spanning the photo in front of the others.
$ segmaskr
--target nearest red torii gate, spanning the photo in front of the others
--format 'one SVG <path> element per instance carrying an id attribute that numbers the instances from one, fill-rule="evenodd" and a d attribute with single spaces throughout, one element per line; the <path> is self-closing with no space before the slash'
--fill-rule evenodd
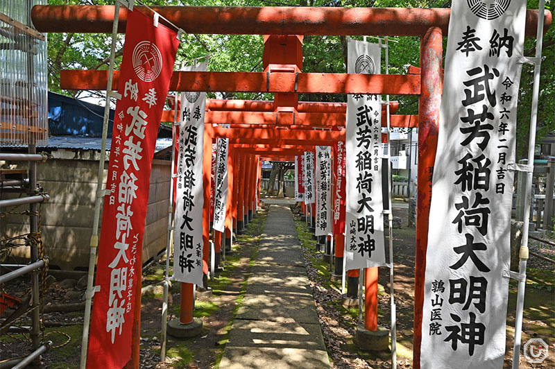
<path id="1" fill-rule="evenodd" d="M 146 8 L 137 7 L 146 12 Z M 170 89 L 174 91 L 206 92 L 273 92 L 276 94 L 418 94 L 418 229 L 416 233 L 415 318 L 413 366 L 420 368 L 422 298 L 425 274 L 425 253 L 430 205 L 431 181 L 437 146 L 438 114 L 443 88 L 442 37 L 447 35 L 449 9 L 417 8 L 302 8 L 302 7 L 153 7 L 170 22 L 187 33 L 263 34 L 263 35 L 390 35 L 419 36 L 420 76 L 417 74 L 357 75 L 316 74 L 298 71 L 270 73 L 236 72 L 174 72 Z M 33 23 L 42 32 L 110 33 L 114 20 L 113 6 L 35 6 Z M 544 15 L 544 32 L 552 16 Z M 119 32 L 126 27 L 127 10 L 119 12 Z M 534 36 L 538 11 L 527 10 L 527 36 Z M 214 27 L 214 24 L 218 24 Z M 60 87 L 64 89 L 104 89 L 108 82 L 105 71 L 62 71 Z M 118 83 L 114 72 L 112 88 Z M 276 98 L 278 100 L 278 98 Z M 289 100 L 285 98 L 285 100 Z M 296 125 L 302 114 L 270 114 L 263 121 Z M 215 112 L 214 112 L 215 113 Z M 212 113 L 212 114 L 214 114 Z M 246 114 L 237 121 L 245 123 L 256 115 L 260 122 L 264 114 Z M 333 113 L 321 113 L 333 114 Z M 221 117 L 221 116 L 220 116 Z M 293 121 L 293 117 L 295 117 Z M 214 116 L 215 118 L 215 116 Z M 323 117 L 321 117 L 323 118 Z M 332 117 L 329 126 L 339 126 Z M 224 119 L 224 120 L 230 120 Z M 333 123 L 332 123 L 333 121 Z M 409 119 L 411 122 L 411 119 Z M 412 121 L 413 122 L 413 121 Z M 225 122 L 218 122 L 225 123 Z M 229 122 L 232 123 L 232 122 Z M 318 123 L 318 122 L 316 122 Z M 318 124 L 314 123 L 314 126 Z M 319 122 L 321 124 L 321 121 Z M 401 123 L 400 123 L 401 124 Z M 311 124 L 308 124 L 311 126 Z M 208 125 L 210 126 L 210 125 Z M 392 125 L 393 126 L 393 125 Z M 416 126 L 411 124 L 410 126 Z M 205 140 L 206 147 L 206 140 Z M 258 150 L 258 149 L 250 149 Z M 259 152 L 262 155 L 262 152 Z M 268 155 L 268 154 L 264 154 Z M 234 166 L 235 167 L 235 166 Z M 205 181 L 206 182 L 206 181 Z M 210 189 L 210 179 L 207 187 Z M 138 347 L 138 345 L 137 345 Z M 133 353 L 132 365 L 138 366 L 139 352 Z"/>

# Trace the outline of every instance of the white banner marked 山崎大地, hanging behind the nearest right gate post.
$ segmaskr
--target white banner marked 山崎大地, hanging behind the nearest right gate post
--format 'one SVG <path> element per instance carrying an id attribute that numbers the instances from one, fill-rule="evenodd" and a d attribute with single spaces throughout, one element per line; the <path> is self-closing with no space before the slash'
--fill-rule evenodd
<path id="1" fill-rule="evenodd" d="M 348 72 L 379 74 L 381 48 L 349 40 Z M 379 95 L 347 97 L 345 268 L 386 266 L 382 200 L 382 105 Z"/>

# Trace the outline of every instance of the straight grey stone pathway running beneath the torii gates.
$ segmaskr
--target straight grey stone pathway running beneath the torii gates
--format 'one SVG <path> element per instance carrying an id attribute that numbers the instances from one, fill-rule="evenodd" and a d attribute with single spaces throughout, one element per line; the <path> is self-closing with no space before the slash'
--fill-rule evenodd
<path id="1" fill-rule="evenodd" d="M 271 203 L 220 368 L 330 368 L 293 215 Z"/>

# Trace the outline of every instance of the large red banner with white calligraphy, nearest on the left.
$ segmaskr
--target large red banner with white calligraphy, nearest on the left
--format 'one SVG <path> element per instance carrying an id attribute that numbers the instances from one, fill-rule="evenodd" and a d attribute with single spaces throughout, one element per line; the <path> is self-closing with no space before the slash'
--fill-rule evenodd
<path id="1" fill-rule="evenodd" d="M 87 356 L 88 368 L 123 368 L 131 357 L 131 328 L 148 187 L 168 94 L 177 33 L 135 9 L 128 12 Z M 135 271 L 136 270 L 136 271 Z M 140 300 L 138 302 L 140 304 Z"/>

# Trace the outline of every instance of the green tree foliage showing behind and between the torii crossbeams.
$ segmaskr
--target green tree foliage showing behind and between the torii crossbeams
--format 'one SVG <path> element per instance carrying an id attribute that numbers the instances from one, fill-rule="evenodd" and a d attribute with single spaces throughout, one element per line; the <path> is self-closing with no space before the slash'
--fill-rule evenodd
<path id="1" fill-rule="evenodd" d="M 49 0 L 50 4 L 103 5 L 113 0 Z M 187 6 L 342 6 L 352 7 L 408 7 L 408 8 L 447 8 L 450 0 L 144 0 L 148 5 L 187 5 Z M 538 8 L 538 0 L 528 0 L 529 9 Z M 551 6 L 548 3 L 547 9 Z M 214 25 L 216 28 L 217 25 Z M 361 38 L 361 37 L 356 37 Z M 389 73 L 406 74 L 409 66 L 418 67 L 420 62 L 419 37 L 391 37 L 397 42 L 389 44 Z M 447 37 L 445 37 L 445 40 Z M 51 33 L 48 39 L 49 88 L 51 91 L 70 94 L 60 90 L 60 69 L 107 69 L 111 35 L 106 34 L 60 34 Z M 305 35 L 303 41 L 303 66 L 305 72 L 344 73 L 346 37 Z M 444 46 L 445 46 L 444 40 Z M 120 51 L 116 65 L 121 62 L 121 49 L 124 36 L 119 35 L 116 50 Z M 536 38 L 529 37 L 524 42 L 524 55 L 533 56 Z M 185 35 L 178 49 L 176 69 L 190 64 L 191 59 L 211 54 L 209 71 L 257 71 L 263 70 L 262 35 Z M 444 55 L 445 57 L 445 55 Z M 382 58 L 384 60 L 384 58 Z M 382 73 L 385 73 L 382 62 Z M 527 141 L 531 115 L 531 95 L 533 67 L 524 65 L 520 82 L 518 101 L 517 159 L 527 152 Z M 89 92 L 103 96 L 103 92 Z M 87 93 L 79 92 L 77 96 Z M 272 94 L 263 93 L 209 93 L 210 98 L 245 98 L 271 100 Z M 346 101 L 345 95 L 300 94 L 300 101 Z M 418 114 L 418 96 L 391 96 L 400 101 L 398 114 Z M 543 62 L 540 77 L 540 99 L 538 106 L 537 142 L 555 130 L 555 27 L 552 26 L 543 38 Z"/>

